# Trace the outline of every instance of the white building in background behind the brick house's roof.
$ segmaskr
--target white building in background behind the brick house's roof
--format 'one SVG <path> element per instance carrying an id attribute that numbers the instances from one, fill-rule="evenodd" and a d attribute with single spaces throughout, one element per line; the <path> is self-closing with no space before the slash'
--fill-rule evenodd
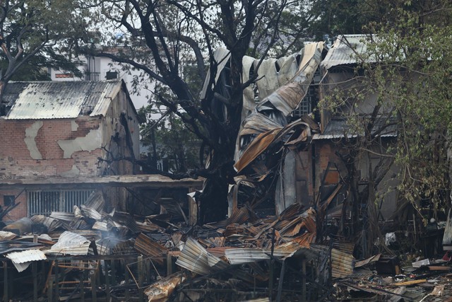
<path id="1" fill-rule="evenodd" d="M 126 82 L 130 97 L 136 110 L 148 105 L 148 100 L 152 97 L 150 90 L 155 86 L 154 81 L 148 81 L 148 89 L 141 88 L 138 93 L 133 93 L 133 78 L 142 76 L 138 70 L 124 71 L 122 66 L 112 59 L 106 57 L 79 57 L 82 64 L 78 66 L 83 72 L 83 77 L 78 78 L 68 71 L 49 68 L 48 72 L 52 81 L 105 81 L 112 79 L 122 79 Z"/>

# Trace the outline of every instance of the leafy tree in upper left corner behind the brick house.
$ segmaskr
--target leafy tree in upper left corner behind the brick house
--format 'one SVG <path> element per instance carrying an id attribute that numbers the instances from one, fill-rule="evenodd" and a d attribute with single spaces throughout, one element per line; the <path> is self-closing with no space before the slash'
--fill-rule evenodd
<path id="1" fill-rule="evenodd" d="M 11 79 L 47 79 L 44 67 L 80 73 L 62 54 L 82 37 L 78 1 L 5 0 L 0 3 L 0 98 Z M 0 102 L 0 113 L 5 112 Z"/>

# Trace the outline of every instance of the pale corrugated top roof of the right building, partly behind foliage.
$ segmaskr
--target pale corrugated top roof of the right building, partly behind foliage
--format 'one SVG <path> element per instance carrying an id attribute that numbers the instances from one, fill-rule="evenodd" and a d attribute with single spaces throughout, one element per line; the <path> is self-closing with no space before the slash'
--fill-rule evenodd
<path id="1" fill-rule="evenodd" d="M 363 42 L 365 40 L 365 35 L 340 35 L 320 63 L 321 68 L 330 69 L 338 65 L 356 64 L 357 56 L 367 50 Z"/>

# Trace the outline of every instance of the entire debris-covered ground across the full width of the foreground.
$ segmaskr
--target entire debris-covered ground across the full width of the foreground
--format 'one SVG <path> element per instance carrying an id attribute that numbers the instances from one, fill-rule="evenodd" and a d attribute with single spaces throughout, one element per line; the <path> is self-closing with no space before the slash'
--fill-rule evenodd
<path id="1" fill-rule="evenodd" d="M 316 211 L 299 204 L 264 217 L 242 207 L 201 227 L 169 214 L 106 213 L 104 203 L 93 194 L 73 213 L 0 231 L 3 301 L 452 299 L 448 253 L 357 260 L 355 243 L 316 243 Z"/>

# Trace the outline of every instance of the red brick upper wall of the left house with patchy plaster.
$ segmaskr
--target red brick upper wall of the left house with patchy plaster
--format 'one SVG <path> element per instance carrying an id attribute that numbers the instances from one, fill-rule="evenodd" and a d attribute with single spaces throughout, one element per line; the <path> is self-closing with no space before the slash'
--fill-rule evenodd
<path id="1" fill-rule="evenodd" d="M 40 158 L 32 156 L 30 144 L 25 143 L 25 132 L 30 129 L 35 120 L 4 120 L 0 119 L 2 129 L 2 144 L 0 144 L 0 178 L 36 178 L 64 175 L 73 170 L 74 166 L 80 175 L 98 175 L 97 157 L 101 149 L 92 151 L 75 151 L 71 158 L 64 158 L 64 151 L 58 144 L 59 140 L 71 140 L 85 137 L 92 129 L 99 128 L 99 120 L 90 117 L 78 117 L 75 120 L 42 120 L 42 126 L 34 137 L 35 147 Z M 32 137 L 32 139 L 33 139 Z M 36 154 L 36 152 L 35 152 Z"/>

